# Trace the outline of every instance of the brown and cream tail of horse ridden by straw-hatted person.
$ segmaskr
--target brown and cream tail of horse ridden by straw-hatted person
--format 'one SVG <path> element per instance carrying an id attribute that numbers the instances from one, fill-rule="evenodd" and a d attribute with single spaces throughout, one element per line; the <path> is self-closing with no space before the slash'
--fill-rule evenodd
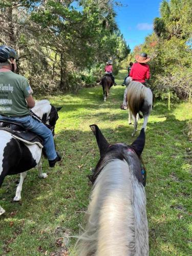
<path id="1" fill-rule="evenodd" d="M 144 102 L 144 98 L 146 96 L 146 88 L 140 82 L 132 81 L 127 90 L 127 103 L 129 109 L 136 117 L 139 111 L 141 110 L 142 104 Z M 139 117 L 143 116 L 139 113 Z"/>

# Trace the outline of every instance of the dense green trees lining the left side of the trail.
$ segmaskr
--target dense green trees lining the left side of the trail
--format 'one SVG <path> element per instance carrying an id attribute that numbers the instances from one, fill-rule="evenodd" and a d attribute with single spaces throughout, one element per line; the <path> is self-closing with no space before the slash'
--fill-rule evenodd
<path id="1" fill-rule="evenodd" d="M 20 74 L 36 91 L 93 84 L 109 58 L 115 69 L 130 49 L 113 1 L 0 0 L 0 44 L 19 53 Z"/>

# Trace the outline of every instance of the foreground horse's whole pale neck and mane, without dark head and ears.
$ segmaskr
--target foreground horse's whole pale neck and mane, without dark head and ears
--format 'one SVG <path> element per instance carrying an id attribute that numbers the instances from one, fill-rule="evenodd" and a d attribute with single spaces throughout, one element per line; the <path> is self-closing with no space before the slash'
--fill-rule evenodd
<path id="1" fill-rule="evenodd" d="M 148 255 L 145 204 L 144 187 L 127 162 L 115 159 L 106 164 L 92 189 L 77 255 Z"/>

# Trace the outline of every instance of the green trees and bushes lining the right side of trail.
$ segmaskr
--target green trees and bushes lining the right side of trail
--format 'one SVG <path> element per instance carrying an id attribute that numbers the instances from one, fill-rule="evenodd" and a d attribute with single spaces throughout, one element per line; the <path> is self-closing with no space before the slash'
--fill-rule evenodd
<path id="1" fill-rule="evenodd" d="M 146 52 L 152 57 L 151 88 L 156 96 L 191 98 L 192 96 L 192 8 L 191 0 L 163 0 L 161 17 L 154 19 L 154 33 L 142 45 L 135 47 L 123 67 L 135 61 L 134 56 Z"/>

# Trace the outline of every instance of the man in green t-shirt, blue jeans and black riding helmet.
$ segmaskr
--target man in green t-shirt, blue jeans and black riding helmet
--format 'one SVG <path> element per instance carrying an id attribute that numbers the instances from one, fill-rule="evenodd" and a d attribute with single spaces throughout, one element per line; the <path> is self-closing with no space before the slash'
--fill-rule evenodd
<path id="1" fill-rule="evenodd" d="M 34 119 L 30 110 L 35 106 L 32 89 L 24 76 L 17 75 L 17 54 L 14 49 L 0 46 L 0 119 L 17 121 L 44 139 L 44 147 L 50 167 L 61 157 L 55 151 L 53 135 L 48 127 Z"/>

